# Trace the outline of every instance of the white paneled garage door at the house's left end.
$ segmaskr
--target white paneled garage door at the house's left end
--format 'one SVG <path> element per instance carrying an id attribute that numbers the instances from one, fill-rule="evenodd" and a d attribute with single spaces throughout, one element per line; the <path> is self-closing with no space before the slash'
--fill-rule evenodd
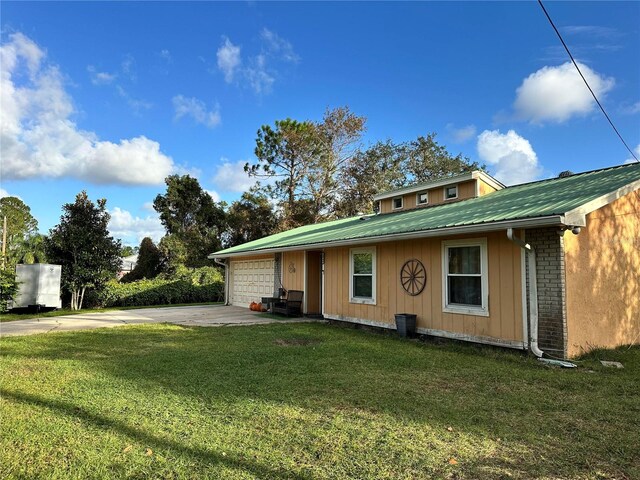
<path id="1" fill-rule="evenodd" d="M 273 260 L 231 262 L 231 304 L 249 307 L 261 297 L 273 295 Z"/>

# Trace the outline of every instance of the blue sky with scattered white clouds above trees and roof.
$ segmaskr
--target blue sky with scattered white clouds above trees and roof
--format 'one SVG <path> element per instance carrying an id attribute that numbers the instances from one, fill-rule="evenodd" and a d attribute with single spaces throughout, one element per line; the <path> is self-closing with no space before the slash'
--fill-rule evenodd
<path id="1" fill-rule="evenodd" d="M 108 199 L 115 236 L 157 240 L 164 176 L 191 173 L 233 201 L 262 124 L 343 105 L 367 117 L 365 145 L 437 132 L 505 183 L 631 157 L 535 2 L 1 9 L 1 193 L 43 232 L 85 189 Z M 640 2 L 547 9 L 640 150 Z"/>

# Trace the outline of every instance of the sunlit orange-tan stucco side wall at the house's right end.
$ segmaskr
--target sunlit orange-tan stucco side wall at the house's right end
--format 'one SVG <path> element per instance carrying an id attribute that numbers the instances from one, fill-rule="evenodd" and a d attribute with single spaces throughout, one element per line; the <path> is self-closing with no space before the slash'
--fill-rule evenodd
<path id="1" fill-rule="evenodd" d="M 567 349 L 640 342 L 640 191 L 587 215 L 566 233 Z"/>

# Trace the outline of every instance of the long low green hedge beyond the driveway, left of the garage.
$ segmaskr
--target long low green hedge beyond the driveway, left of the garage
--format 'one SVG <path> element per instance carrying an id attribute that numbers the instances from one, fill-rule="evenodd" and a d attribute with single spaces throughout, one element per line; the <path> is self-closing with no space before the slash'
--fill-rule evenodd
<path id="1" fill-rule="evenodd" d="M 191 280 L 138 280 L 131 283 L 109 282 L 95 299 L 103 307 L 170 305 L 175 303 L 221 302 L 224 282 L 215 280 L 204 285 Z M 87 305 L 89 306 L 89 305 Z"/>

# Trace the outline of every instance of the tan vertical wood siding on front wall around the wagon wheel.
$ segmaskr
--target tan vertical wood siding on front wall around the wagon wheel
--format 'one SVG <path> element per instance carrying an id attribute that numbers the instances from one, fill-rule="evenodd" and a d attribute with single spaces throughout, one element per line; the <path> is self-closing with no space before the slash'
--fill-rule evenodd
<path id="1" fill-rule="evenodd" d="M 442 241 L 481 237 L 487 239 L 489 316 L 445 313 Z M 415 313 L 418 328 L 523 341 L 521 249 L 507 239 L 505 232 L 379 243 L 376 253 L 376 305 L 363 305 L 349 302 L 349 247 L 325 250 L 325 316 L 368 320 L 395 328 L 396 313 Z M 407 294 L 399 280 L 402 265 L 413 258 L 427 270 L 427 285 L 417 296 Z"/>

